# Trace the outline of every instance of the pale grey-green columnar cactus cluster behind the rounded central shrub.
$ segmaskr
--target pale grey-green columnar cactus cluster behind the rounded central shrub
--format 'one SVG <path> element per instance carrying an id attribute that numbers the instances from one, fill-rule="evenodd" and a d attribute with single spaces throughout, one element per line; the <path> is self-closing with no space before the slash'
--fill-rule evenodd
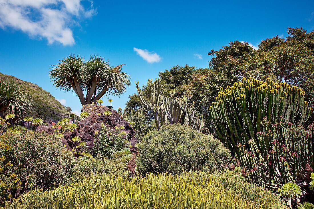
<path id="1" fill-rule="evenodd" d="M 171 92 L 170 98 L 165 97 L 161 91 L 160 79 L 156 78 L 153 82 L 149 79 L 147 82 L 147 95 L 138 87 L 138 96 L 142 104 L 154 115 L 154 121 L 157 129 L 162 125 L 181 124 L 191 126 L 193 129 L 202 131 L 204 127 L 203 115 L 201 118 L 196 116 L 194 111 L 194 103 L 189 107 L 187 105 L 187 97 L 174 97 Z"/>

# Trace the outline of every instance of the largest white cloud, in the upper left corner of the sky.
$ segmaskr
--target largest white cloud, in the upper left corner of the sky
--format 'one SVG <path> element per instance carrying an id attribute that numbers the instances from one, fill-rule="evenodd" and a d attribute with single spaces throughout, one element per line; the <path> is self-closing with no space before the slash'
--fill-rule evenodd
<path id="1" fill-rule="evenodd" d="M 49 44 L 75 43 L 70 26 L 96 14 L 82 0 L 0 0 L 0 27 L 13 28 L 30 37 L 46 38 Z"/>

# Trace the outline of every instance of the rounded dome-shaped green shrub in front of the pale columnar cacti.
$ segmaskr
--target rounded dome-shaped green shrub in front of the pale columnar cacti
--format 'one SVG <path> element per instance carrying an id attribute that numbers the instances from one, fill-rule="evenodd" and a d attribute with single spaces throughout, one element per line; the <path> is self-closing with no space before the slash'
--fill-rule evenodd
<path id="1" fill-rule="evenodd" d="M 216 170 L 230 161 L 230 151 L 219 140 L 189 126 L 163 126 L 145 135 L 137 147 L 139 173 Z"/>

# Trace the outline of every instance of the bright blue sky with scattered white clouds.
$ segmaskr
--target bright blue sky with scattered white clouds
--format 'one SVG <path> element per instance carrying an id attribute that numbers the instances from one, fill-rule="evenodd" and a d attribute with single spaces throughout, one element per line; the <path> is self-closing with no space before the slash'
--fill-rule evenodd
<path id="1" fill-rule="evenodd" d="M 313 15 L 313 1 L 0 0 L 0 72 L 36 83 L 80 112 L 75 94 L 53 86 L 50 67 L 71 53 L 100 54 L 126 64 L 132 86 L 109 97 L 114 109 L 124 108 L 135 81 L 145 84 L 176 65 L 208 67 L 208 52 L 230 41 L 257 46 L 285 38 L 288 27 L 311 31 Z"/>

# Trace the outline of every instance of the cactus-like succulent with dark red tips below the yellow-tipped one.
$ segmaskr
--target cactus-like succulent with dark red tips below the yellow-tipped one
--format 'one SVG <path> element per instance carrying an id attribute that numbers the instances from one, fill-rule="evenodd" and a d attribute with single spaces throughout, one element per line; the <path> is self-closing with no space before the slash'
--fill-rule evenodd
<path id="1" fill-rule="evenodd" d="M 286 182 L 310 181 L 314 169 L 314 126 L 305 130 L 284 122 L 282 117 L 275 124 L 265 117 L 261 126 L 265 133 L 257 132 L 257 139 L 250 139 L 248 146 L 236 146 L 237 164 L 241 165 L 236 170 L 241 170 L 249 181 L 273 189 Z"/>

